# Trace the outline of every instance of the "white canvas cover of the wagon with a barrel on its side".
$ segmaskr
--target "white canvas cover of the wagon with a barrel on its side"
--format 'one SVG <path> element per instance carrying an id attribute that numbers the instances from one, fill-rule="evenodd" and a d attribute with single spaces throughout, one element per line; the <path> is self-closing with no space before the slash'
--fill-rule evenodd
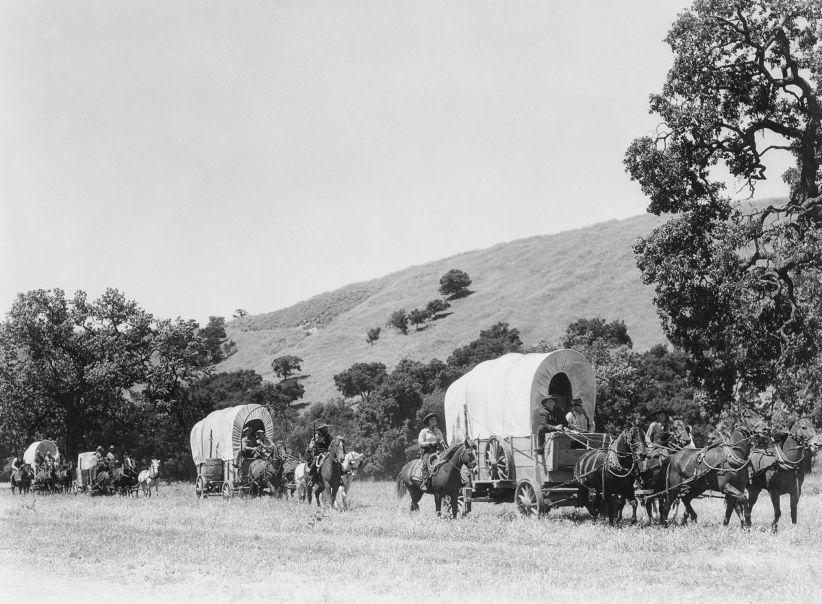
<path id="1" fill-rule="evenodd" d="M 256 420 L 256 422 L 254 421 Z M 262 405 L 248 404 L 219 409 L 205 416 L 192 428 L 192 457 L 199 466 L 205 459 L 230 461 L 240 454 L 242 427 L 262 425 L 269 440 L 274 440 L 274 419 Z"/>

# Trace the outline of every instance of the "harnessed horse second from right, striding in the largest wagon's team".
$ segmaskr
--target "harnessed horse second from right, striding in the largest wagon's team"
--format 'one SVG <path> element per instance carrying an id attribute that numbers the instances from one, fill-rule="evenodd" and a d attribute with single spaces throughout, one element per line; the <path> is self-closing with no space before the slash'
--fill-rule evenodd
<path id="1" fill-rule="evenodd" d="M 725 495 L 725 521 L 731 521 L 736 509 L 742 528 L 750 527 L 750 506 L 745 494 L 748 483 L 748 464 L 754 436 L 769 436 L 770 426 L 760 415 L 750 409 L 742 409 L 740 421 L 734 426 L 729 440 L 719 440 L 700 450 L 683 449 L 673 454 L 668 463 L 666 490 L 660 522 L 667 526 L 671 505 L 681 497 L 685 505 L 682 523 L 688 517 L 696 521 L 691 500 L 707 491 L 720 491 Z M 744 515 L 744 519 L 743 519 Z"/>

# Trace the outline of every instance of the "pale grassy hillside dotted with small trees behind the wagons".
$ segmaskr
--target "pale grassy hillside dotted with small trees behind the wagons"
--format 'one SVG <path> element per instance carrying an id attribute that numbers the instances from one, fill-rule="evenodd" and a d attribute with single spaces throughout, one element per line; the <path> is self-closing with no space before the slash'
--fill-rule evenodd
<path id="1" fill-rule="evenodd" d="M 626 322 L 635 349 L 664 341 L 653 290 L 642 284 L 631 246 L 662 223 L 650 215 L 613 220 L 575 231 L 529 237 L 469 251 L 380 279 L 321 293 L 289 308 L 247 316 L 227 325 L 238 353 L 217 371 L 254 369 L 273 380 L 270 362 L 296 354 L 305 362 L 306 400 L 338 394 L 333 376 L 353 362 L 380 361 L 393 367 L 404 357 L 445 360 L 479 330 L 506 321 L 526 345 L 556 339 L 580 317 Z M 408 335 L 386 327 L 392 311 L 411 311 L 438 297 L 442 274 L 466 271 L 473 293 L 452 302 L 450 314 Z M 381 326 L 370 346 L 366 330 Z"/>

